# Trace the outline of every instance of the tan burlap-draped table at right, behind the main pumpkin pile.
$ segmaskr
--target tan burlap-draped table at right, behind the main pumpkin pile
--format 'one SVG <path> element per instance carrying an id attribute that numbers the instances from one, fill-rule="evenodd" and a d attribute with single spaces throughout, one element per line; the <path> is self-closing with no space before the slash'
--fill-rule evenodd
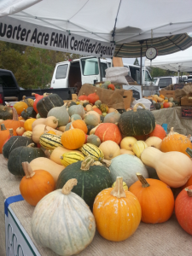
<path id="1" fill-rule="evenodd" d="M 174 131 L 178 133 L 192 135 L 192 119 L 181 118 L 181 107 L 162 108 L 154 110 L 152 113 L 154 113 L 156 124 L 168 125 L 168 132 L 174 127 Z"/>

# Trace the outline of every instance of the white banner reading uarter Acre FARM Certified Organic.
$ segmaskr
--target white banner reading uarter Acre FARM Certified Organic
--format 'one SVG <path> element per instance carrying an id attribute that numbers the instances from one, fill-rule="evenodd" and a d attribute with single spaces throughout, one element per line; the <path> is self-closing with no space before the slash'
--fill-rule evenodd
<path id="1" fill-rule="evenodd" d="M 115 45 L 11 17 L 0 18 L 0 40 L 79 55 L 111 58 Z"/>

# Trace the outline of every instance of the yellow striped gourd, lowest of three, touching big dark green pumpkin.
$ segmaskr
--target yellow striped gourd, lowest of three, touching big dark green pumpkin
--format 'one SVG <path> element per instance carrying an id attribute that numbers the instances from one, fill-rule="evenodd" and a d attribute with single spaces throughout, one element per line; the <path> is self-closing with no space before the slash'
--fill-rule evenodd
<path id="1" fill-rule="evenodd" d="M 62 154 L 60 158 L 61 158 L 61 164 L 67 167 L 78 161 L 83 161 L 84 155 L 78 152 L 67 152 L 65 154 Z"/>

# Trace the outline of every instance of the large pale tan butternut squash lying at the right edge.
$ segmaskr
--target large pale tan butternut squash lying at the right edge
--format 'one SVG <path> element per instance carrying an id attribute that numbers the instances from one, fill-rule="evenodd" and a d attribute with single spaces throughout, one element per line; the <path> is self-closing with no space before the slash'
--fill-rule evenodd
<path id="1" fill-rule="evenodd" d="M 143 150 L 143 164 L 153 167 L 160 180 L 172 188 L 179 188 L 192 175 L 191 160 L 183 153 L 174 151 L 163 153 L 154 147 Z"/>

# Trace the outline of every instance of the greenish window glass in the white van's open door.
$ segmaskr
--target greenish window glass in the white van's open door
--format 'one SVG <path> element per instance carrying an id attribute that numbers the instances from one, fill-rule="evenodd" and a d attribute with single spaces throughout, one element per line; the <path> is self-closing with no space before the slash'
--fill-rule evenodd
<path id="1" fill-rule="evenodd" d="M 98 60 L 96 58 L 81 59 L 81 64 L 82 64 L 84 76 L 99 74 Z M 105 64 L 105 63 L 102 63 L 102 64 Z"/>

